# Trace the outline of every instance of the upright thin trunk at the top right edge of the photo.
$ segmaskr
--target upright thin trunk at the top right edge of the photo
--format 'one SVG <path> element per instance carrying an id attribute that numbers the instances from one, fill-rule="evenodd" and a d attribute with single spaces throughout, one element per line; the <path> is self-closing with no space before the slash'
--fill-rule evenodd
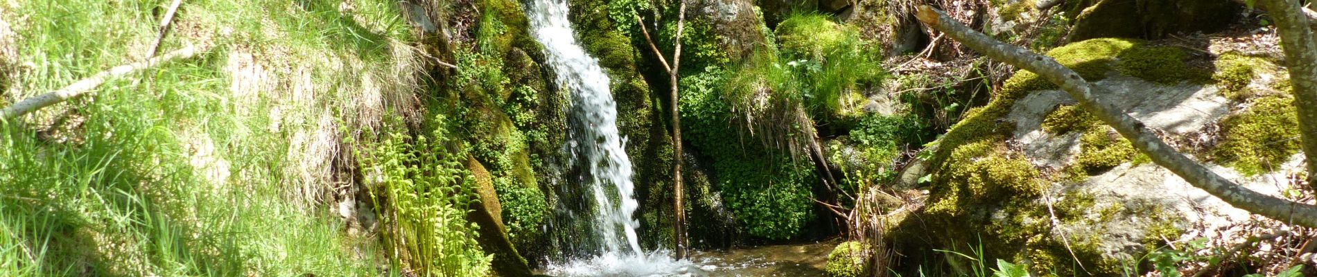
<path id="1" fill-rule="evenodd" d="M 1308 16 L 1297 1 L 1262 0 L 1280 33 L 1280 46 L 1289 66 L 1289 83 L 1299 108 L 1300 146 L 1308 156 L 1308 180 L 1317 173 L 1317 43 Z"/>

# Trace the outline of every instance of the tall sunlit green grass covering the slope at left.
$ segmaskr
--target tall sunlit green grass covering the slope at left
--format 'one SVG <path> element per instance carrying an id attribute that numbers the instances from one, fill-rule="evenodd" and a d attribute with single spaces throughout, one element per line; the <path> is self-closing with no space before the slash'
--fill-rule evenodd
<path id="1" fill-rule="evenodd" d="M 141 60 L 169 3 L 0 9 L 30 64 L 0 104 Z M 327 209 L 327 168 L 412 93 L 411 38 L 396 3 L 348 3 L 184 1 L 162 53 L 200 58 L 0 122 L 0 276 L 385 273 L 378 240 Z"/>

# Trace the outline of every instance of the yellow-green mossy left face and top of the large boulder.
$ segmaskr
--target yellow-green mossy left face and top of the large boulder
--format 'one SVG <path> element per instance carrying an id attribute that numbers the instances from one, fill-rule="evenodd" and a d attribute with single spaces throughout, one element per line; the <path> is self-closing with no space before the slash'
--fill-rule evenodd
<path id="1" fill-rule="evenodd" d="M 1189 68 L 1187 58 L 1176 56 L 1176 51 L 1179 50 L 1150 47 L 1139 41 L 1101 38 L 1062 46 L 1048 51 L 1048 55 L 1076 70 L 1089 81 L 1105 80 L 1122 71 L 1151 72 L 1138 77 L 1160 80 L 1166 84 L 1204 80 L 1204 74 L 1176 71 Z M 1108 81 L 1143 83 L 1123 76 Z M 913 215 L 922 219 L 919 224 L 925 224 L 914 228 L 938 230 L 938 235 L 919 238 L 921 231 L 902 230 L 909 227 L 900 227 L 893 235 L 915 236 L 903 240 L 931 239 L 935 242 L 934 245 L 926 247 L 963 252 L 968 251 L 963 248 L 967 243 L 977 243 L 975 247 L 982 247 L 982 255 L 988 260 L 1004 259 L 1027 265 L 1035 273 L 1054 272 L 1065 276 L 1118 274 L 1122 259 L 1129 259 L 1129 255 L 1142 255 L 1138 251 L 1112 245 L 1125 245 L 1130 242 L 1122 238 L 1138 239 L 1147 234 L 1150 226 L 1155 223 L 1154 219 L 1138 218 L 1150 218 L 1152 213 L 1123 213 L 1122 209 L 1133 203 L 1121 202 L 1105 192 L 1077 189 L 1087 185 L 1076 185 L 1085 182 L 1089 175 L 1098 175 L 1115 165 L 1138 160 L 1137 151 L 1127 140 L 1081 108 L 1075 105 L 1050 108 L 1065 102 L 1063 95 L 1039 96 L 1040 98 L 1034 97 L 1021 102 L 1023 105 L 1017 105 L 1026 96 L 1055 88 L 1056 85 L 1038 75 L 1021 71 L 1005 83 L 986 106 L 967 112 L 965 118 L 935 143 L 932 159 L 928 160 L 932 168 L 931 182 L 926 186 L 930 196 L 925 209 Z M 1046 108 L 1036 108 L 1040 105 L 1036 101 L 1052 102 L 1042 104 Z M 1027 119 L 1025 123 L 1026 119 L 1011 116 L 1022 110 L 1034 110 L 1025 113 L 1038 114 L 1042 118 Z M 1015 127 L 1030 130 L 1017 133 Z M 1033 137 L 1036 134 L 1033 127 L 1042 129 L 1050 135 Z M 1083 135 L 1064 135 L 1073 133 Z M 1040 158 L 1038 154 L 1027 152 L 1036 148 L 1021 150 L 1013 144 L 1013 140 L 1021 139 L 1018 135 L 1030 135 L 1035 139 L 1073 139 L 1072 143 L 1079 144 L 1080 154 L 1067 167 L 1079 171 L 1080 176 L 1063 179 L 1065 171 L 1038 168 L 1035 163 L 1042 161 L 1034 159 Z M 1047 150 L 1069 150 L 1069 147 Z M 1172 211 L 1166 214 L 1168 215 L 1156 218 L 1176 217 Z M 1075 266 L 1076 260 L 1084 264 L 1087 270 Z"/>

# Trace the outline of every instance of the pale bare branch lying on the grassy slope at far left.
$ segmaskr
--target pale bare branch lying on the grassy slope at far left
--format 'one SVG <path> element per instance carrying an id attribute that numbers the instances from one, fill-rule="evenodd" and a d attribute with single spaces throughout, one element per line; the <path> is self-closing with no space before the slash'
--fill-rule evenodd
<path id="1" fill-rule="evenodd" d="M 155 66 L 159 66 L 162 63 L 173 62 L 173 60 L 176 60 L 176 59 L 192 58 L 192 56 L 196 56 L 198 53 L 200 53 L 200 50 L 198 50 L 196 46 L 187 46 L 187 47 L 183 47 L 180 50 L 175 50 L 173 53 L 165 54 L 162 56 L 150 58 L 150 59 L 148 59 L 145 62 L 137 62 L 137 63 L 117 66 L 117 67 L 109 68 L 107 71 L 101 71 L 100 74 L 92 75 L 91 77 L 78 80 L 76 83 L 70 84 L 68 87 L 61 88 L 58 91 L 49 92 L 49 93 L 45 93 L 45 95 L 40 95 L 40 96 L 30 97 L 30 98 L 25 98 L 25 100 L 20 101 L 20 102 L 9 105 L 9 106 L 4 108 L 4 110 L 0 110 L 0 118 L 3 118 L 5 121 L 11 121 L 11 119 L 18 118 L 18 117 L 21 117 L 24 114 L 28 114 L 28 113 L 32 113 L 34 110 L 38 110 L 41 108 L 55 105 L 55 104 L 67 101 L 68 98 L 79 97 L 83 93 L 87 93 L 88 91 L 95 89 L 96 87 L 100 87 L 100 84 L 104 84 L 105 81 L 108 81 L 108 80 L 111 80 L 113 77 L 124 76 L 124 75 L 128 75 L 128 74 L 132 74 L 132 72 L 137 72 L 137 71 L 141 71 L 141 70 L 145 70 L 145 68 L 155 67 Z"/>

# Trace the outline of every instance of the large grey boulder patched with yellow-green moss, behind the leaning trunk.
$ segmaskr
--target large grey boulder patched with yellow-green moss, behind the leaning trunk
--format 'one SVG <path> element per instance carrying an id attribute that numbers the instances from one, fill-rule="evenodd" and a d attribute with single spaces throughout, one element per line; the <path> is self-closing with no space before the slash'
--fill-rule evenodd
<path id="1" fill-rule="evenodd" d="M 1210 169 L 1249 189 L 1281 196 L 1289 184 L 1275 180 L 1303 171 L 1297 150 L 1272 155 L 1284 159 L 1258 173 L 1241 172 L 1217 165 L 1233 163 L 1206 150 L 1243 131 L 1204 130 L 1233 121 L 1283 127 L 1272 123 L 1283 118 L 1251 110 L 1283 110 L 1272 104 L 1289 105 L 1275 101 L 1287 96 L 1227 98 L 1229 89 L 1204 77 L 1212 74 L 1208 68 L 1189 66 L 1206 63 L 1191 63 L 1192 56 L 1172 50 L 1090 39 L 1048 55 L 1104 88 L 1094 91 L 1096 98 L 1159 131 L 1181 152 L 1209 161 Z M 922 221 L 900 224 L 893 234 L 898 244 L 932 242 L 903 244 L 964 251 L 965 243 L 977 242 L 988 260 L 1018 261 L 1035 272 L 1108 276 L 1166 242 L 1238 238 L 1234 227 L 1254 219 L 1150 163 L 1073 105 L 1039 76 L 1017 72 L 988 106 L 969 112 L 939 139 L 934 158 L 923 163 L 931 173 L 925 186 L 930 197 L 910 217 Z M 1085 266 L 1075 266 L 1076 260 Z"/>

